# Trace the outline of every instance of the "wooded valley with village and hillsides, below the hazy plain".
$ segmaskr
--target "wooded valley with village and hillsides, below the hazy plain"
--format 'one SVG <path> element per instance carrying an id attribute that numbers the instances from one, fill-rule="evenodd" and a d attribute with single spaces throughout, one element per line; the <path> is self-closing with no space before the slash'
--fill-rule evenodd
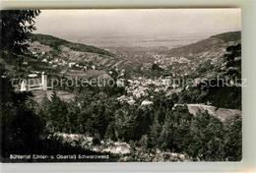
<path id="1" fill-rule="evenodd" d="M 241 117 L 239 97 L 234 98 L 239 96 L 239 88 L 224 87 L 226 92 L 221 87 L 207 86 L 219 76 L 232 82 L 222 70 L 224 56 L 228 54 L 227 47 L 239 45 L 240 41 L 240 32 L 236 31 L 174 48 L 97 48 L 32 34 L 29 53 L 23 57 L 16 77 L 30 79 L 46 74 L 52 89 L 32 90 L 32 100 L 47 122 L 50 140 L 110 153 L 119 161 L 214 160 L 215 157 L 199 158 L 184 146 L 187 142 L 177 135 L 180 131 L 189 134 L 185 129 L 177 128 L 171 135 L 160 126 L 169 129 L 181 123 L 201 131 L 202 127 L 193 122 L 204 119 L 207 126 L 224 126 Z M 9 66 L 15 68 L 15 64 Z M 113 82 L 113 86 L 81 86 L 85 80 L 102 79 Z M 53 87 L 54 81 L 65 84 Z M 77 86 L 68 83 L 73 81 Z M 204 84 L 206 88 L 200 87 Z M 223 137 L 224 134 L 218 138 Z M 189 143 L 195 143 L 196 138 L 193 140 Z"/>

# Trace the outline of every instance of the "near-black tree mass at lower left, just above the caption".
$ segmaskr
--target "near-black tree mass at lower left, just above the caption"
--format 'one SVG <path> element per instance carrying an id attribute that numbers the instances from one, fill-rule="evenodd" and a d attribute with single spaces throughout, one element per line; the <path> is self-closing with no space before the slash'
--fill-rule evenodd
<path id="1" fill-rule="evenodd" d="M 10 81 L 0 80 L 4 82 L 4 87 L 12 88 Z M 0 94 L 1 157 L 9 158 L 11 153 L 32 153 L 39 137 L 44 134 L 44 121 L 34 113 L 34 104 L 28 104 L 30 92 L 3 90 L 8 92 Z"/>

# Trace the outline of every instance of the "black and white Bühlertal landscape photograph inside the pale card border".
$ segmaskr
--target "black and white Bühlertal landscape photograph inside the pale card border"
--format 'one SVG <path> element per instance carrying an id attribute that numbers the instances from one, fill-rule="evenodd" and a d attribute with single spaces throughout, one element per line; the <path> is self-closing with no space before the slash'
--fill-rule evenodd
<path id="1" fill-rule="evenodd" d="M 0 20 L 1 162 L 241 161 L 241 9 Z"/>

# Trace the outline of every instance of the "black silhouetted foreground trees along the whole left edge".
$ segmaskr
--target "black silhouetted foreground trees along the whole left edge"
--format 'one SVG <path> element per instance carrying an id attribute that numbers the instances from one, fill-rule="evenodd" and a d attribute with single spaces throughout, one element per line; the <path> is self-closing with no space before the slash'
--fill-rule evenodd
<path id="1" fill-rule="evenodd" d="M 27 50 L 26 41 L 33 27 L 33 19 L 38 10 L 2 10 L 0 56 L 17 58 Z M 13 56 L 15 55 L 15 56 Z M 0 118 L 1 118 L 1 157 L 10 153 L 23 153 L 37 147 L 43 132 L 43 121 L 26 105 L 30 93 L 16 93 L 1 65 L 0 78 Z"/>

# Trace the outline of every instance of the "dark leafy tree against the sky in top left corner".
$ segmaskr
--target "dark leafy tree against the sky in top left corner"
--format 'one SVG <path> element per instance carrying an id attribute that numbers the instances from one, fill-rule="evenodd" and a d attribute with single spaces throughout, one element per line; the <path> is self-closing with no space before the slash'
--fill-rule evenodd
<path id="1" fill-rule="evenodd" d="M 0 36 L 1 51 L 23 54 L 28 49 L 26 41 L 34 30 L 34 18 L 39 10 L 3 10 L 0 12 L 2 25 Z"/>

